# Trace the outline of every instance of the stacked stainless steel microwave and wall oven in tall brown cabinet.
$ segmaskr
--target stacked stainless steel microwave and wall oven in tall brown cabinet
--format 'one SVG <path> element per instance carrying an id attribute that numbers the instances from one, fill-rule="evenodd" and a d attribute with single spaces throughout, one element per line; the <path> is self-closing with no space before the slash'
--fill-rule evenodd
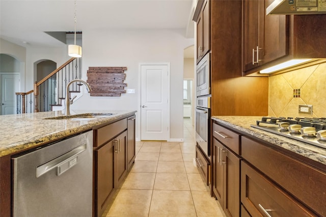
<path id="1" fill-rule="evenodd" d="M 207 53 L 196 68 L 196 141 L 200 149 L 210 156 L 210 53 Z"/>

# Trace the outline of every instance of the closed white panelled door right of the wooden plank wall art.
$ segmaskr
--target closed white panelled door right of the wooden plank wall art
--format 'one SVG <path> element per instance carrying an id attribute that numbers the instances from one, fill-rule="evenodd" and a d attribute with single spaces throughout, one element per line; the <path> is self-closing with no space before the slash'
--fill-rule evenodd
<path id="1" fill-rule="evenodd" d="M 141 140 L 169 140 L 169 64 L 141 64 Z"/>

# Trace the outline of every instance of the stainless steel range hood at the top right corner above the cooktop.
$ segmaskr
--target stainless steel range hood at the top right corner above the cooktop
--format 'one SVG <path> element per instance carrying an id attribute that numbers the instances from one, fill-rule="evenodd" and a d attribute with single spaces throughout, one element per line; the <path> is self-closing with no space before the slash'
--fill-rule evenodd
<path id="1" fill-rule="evenodd" d="M 325 0 L 275 0 L 266 8 L 269 15 L 326 14 Z"/>

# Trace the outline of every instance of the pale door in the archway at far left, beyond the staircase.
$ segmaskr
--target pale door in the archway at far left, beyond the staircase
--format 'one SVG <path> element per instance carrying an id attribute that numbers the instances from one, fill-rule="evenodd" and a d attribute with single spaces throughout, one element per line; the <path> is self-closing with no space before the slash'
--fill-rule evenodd
<path id="1" fill-rule="evenodd" d="M 20 91 L 18 73 L 1 74 L 1 114 L 16 114 L 17 100 L 15 92 Z"/>

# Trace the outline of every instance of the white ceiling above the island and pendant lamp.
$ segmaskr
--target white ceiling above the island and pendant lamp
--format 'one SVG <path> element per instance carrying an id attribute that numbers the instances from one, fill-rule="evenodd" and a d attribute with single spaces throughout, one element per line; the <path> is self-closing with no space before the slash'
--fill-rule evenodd
<path id="1" fill-rule="evenodd" d="M 193 11 L 192 0 L 77 0 L 76 30 L 182 28 L 193 36 Z M 73 31 L 73 0 L 0 0 L 0 36 L 7 41 L 56 47 L 63 43 L 44 32 Z"/>

